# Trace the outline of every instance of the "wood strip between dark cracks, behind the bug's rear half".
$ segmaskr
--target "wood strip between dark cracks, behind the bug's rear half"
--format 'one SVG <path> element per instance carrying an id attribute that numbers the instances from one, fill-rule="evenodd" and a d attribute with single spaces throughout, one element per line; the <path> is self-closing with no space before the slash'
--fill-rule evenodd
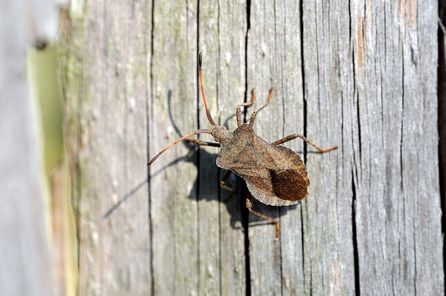
<path id="1" fill-rule="evenodd" d="M 253 2 L 251 6 L 247 81 L 248 88 L 255 89 L 259 104 L 265 102 L 268 90 L 274 88 L 270 105 L 259 112 L 254 126 L 257 134 L 268 142 L 295 132 L 303 134 L 299 13 L 298 2 L 287 6 L 270 1 Z M 286 146 L 302 152 L 300 141 Z M 254 210 L 282 222 L 281 240 L 275 240 L 274 225 L 265 224 L 266 221 L 253 215 L 249 217 L 253 225 L 249 228 L 253 295 L 302 293 L 301 205 L 286 208 L 259 202 L 253 205 Z"/>

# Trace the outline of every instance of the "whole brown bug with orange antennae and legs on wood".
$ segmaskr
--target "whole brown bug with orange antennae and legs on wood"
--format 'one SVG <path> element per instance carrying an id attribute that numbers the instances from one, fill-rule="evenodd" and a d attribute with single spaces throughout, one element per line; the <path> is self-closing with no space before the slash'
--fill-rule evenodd
<path id="1" fill-rule="evenodd" d="M 210 125 L 212 125 L 212 129 L 196 130 L 178 141 L 175 141 L 155 155 L 147 165 L 151 165 L 162 153 L 164 153 L 164 151 L 171 148 L 171 146 L 174 146 L 176 143 L 179 143 L 194 134 L 211 134 L 214 137 L 214 140 L 218 143 L 209 143 L 198 140 L 192 141 L 195 141 L 199 145 L 220 147 L 220 153 L 218 153 L 217 156 L 217 166 L 229 170 L 224 174 L 220 181 L 220 185 L 231 191 L 230 198 L 235 193 L 235 189 L 226 186 L 225 182 L 228 180 L 231 171 L 243 178 L 246 181 L 250 193 L 246 198 L 247 209 L 249 212 L 252 212 L 252 214 L 275 223 L 277 237 L 279 237 L 279 221 L 252 210 L 252 196 L 266 205 L 280 206 L 295 205 L 299 201 L 304 200 L 309 194 L 307 191 L 307 187 L 309 187 L 309 178 L 305 164 L 293 150 L 280 146 L 280 144 L 300 138 L 321 153 L 334 150 L 337 146 L 324 150 L 314 145 L 314 143 L 300 134 L 291 134 L 288 137 L 284 137 L 273 143 L 268 143 L 257 136 L 252 129 L 254 120 L 256 119 L 256 112 L 270 103 L 272 88 L 270 89 L 270 94 L 268 95 L 266 103 L 252 112 L 249 124 L 242 124 L 240 107 L 251 106 L 254 104 L 256 97 L 254 90 L 252 90 L 251 102 L 238 104 L 237 106 L 236 118 L 238 127 L 233 131 L 227 130 L 226 127 L 217 125 L 210 116 L 210 111 L 206 104 L 206 98 L 203 91 L 203 79 L 201 77 L 201 52 L 199 53 L 199 77 L 206 116 L 208 117 Z"/>

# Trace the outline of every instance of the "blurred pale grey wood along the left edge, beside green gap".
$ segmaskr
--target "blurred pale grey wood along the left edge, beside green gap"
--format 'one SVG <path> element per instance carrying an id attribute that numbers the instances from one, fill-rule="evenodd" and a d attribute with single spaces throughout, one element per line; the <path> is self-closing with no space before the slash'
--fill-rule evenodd
<path id="1" fill-rule="evenodd" d="M 56 295 L 26 50 L 55 38 L 52 1 L 0 3 L 0 295 Z"/>

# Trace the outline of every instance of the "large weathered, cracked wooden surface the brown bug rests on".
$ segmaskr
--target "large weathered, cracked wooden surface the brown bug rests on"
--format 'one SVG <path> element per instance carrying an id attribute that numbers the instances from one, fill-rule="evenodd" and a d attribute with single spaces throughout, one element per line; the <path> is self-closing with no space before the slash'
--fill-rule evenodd
<path id="1" fill-rule="evenodd" d="M 433 1 L 72 6 L 61 40 L 79 292 L 443 295 L 436 15 Z M 259 136 L 339 146 L 284 144 L 311 186 L 295 206 L 254 202 L 280 219 L 279 240 L 259 217 L 244 228 L 245 196 L 224 203 L 217 148 L 185 141 L 146 171 L 209 127 L 199 50 L 217 123 L 232 130 L 251 89 L 259 106 L 273 87 Z"/>

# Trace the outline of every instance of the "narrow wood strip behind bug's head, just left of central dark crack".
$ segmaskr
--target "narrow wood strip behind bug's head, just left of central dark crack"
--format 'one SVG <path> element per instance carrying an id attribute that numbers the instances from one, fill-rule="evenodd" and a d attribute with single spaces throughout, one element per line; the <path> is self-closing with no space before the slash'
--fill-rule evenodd
<path id="1" fill-rule="evenodd" d="M 220 1 L 219 3 L 216 93 L 219 116 L 216 119 L 222 125 L 227 124 L 229 129 L 236 127 L 236 118 L 233 115 L 236 113 L 236 105 L 243 102 L 245 95 L 246 6 L 245 0 Z M 219 180 L 224 173 L 224 170 L 220 170 Z M 231 178 L 231 180 L 237 179 Z M 224 200 L 229 196 L 229 191 L 219 188 L 221 202 L 220 295 L 245 295 L 245 229 L 242 225 L 241 215 L 241 207 L 245 201 L 240 196 L 240 182 L 229 182 L 229 186 L 235 187 L 238 192 L 227 202 Z"/>

